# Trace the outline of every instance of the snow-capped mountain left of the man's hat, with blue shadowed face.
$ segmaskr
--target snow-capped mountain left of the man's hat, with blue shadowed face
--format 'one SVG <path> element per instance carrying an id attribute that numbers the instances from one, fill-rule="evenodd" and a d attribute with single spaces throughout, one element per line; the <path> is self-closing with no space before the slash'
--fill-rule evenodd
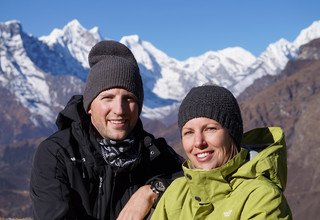
<path id="1" fill-rule="evenodd" d="M 65 96 L 82 91 L 88 69 L 77 51 L 85 51 L 101 39 L 75 21 L 64 31 L 75 37 L 55 35 L 57 41 L 50 41 L 53 37 L 40 41 L 23 32 L 18 21 L 0 24 L 0 85 L 30 110 L 35 125 L 51 126 L 66 103 Z M 83 44 L 73 43 L 76 34 L 86 36 Z"/>

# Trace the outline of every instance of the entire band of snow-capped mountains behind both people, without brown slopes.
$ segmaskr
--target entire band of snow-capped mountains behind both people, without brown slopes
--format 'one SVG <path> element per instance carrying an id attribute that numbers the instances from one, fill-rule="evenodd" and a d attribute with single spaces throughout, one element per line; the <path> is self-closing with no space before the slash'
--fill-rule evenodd
<path id="1" fill-rule="evenodd" d="M 145 86 L 142 116 L 172 123 L 191 87 L 211 81 L 239 95 L 255 79 L 278 74 L 295 59 L 302 44 L 319 37 L 320 21 L 316 21 L 294 42 L 280 39 L 259 57 L 234 47 L 184 61 L 169 57 L 137 35 L 125 36 L 120 42 L 139 63 Z M 18 21 L 0 23 L 0 85 L 30 110 L 35 125 L 52 124 L 70 96 L 82 92 L 89 50 L 101 39 L 97 27 L 87 30 L 77 20 L 40 38 L 23 32 Z"/>

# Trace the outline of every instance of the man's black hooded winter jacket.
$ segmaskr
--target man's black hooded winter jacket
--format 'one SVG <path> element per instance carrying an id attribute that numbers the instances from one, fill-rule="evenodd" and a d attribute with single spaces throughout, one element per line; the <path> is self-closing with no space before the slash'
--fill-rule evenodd
<path id="1" fill-rule="evenodd" d="M 163 138 L 143 130 L 134 135 L 139 159 L 117 172 L 103 159 L 92 135 L 82 96 L 71 98 L 57 118 L 59 131 L 38 147 L 30 195 L 35 219 L 116 219 L 131 195 L 155 178 L 170 183 L 181 175 L 182 158 Z"/>

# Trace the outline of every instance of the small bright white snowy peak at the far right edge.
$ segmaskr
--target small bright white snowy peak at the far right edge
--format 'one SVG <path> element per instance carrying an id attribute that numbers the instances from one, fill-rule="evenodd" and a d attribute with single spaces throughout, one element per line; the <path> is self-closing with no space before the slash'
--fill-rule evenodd
<path id="1" fill-rule="evenodd" d="M 309 27 L 303 29 L 293 44 L 299 48 L 314 39 L 320 38 L 320 20 L 314 21 Z"/>

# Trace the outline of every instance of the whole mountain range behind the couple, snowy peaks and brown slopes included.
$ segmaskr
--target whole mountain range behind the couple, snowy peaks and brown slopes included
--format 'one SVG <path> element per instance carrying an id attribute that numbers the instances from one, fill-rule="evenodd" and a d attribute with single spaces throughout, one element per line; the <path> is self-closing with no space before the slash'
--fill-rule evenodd
<path id="1" fill-rule="evenodd" d="M 314 133 L 320 131 L 315 124 L 320 115 L 319 38 L 320 21 L 315 21 L 293 42 L 280 39 L 258 57 L 233 47 L 183 61 L 137 35 L 120 42 L 132 50 L 140 67 L 145 127 L 165 136 L 179 153 L 183 154 L 177 107 L 191 87 L 208 81 L 237 96 L 246 130 L 283 127 L 289 156 L 288 200 L 295 216 L 312 219 L 319 214 L 313 202 L 320 202 L 314 197 L 320 193 L 316 184 L 320 169 L 305 150 L 312 152 L 314 161 L 320 156 L 314 147 L 320 143 Z M 5 107 L 0 110 L 0 216 L 31 215 L 27 189 L 33 151 L 56 129 L 55 117 L 68 99 L 82 93 L 89 71 L 87 55 L 100 40 L 97 27 L 87 30 L 77 20 L 39 38 L 24 32 L 19 21 L 0 23 L 0 104 Z M 303 192 L 298 193 L 300 187 Z M 301 207 L 300 202 L 308 205 Z"/>

